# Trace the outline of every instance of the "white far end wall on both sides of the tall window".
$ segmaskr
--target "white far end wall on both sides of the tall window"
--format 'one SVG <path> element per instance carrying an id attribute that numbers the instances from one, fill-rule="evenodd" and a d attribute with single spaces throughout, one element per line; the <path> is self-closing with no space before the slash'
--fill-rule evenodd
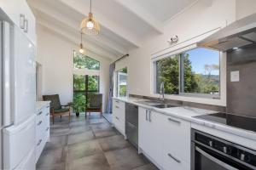
<path id="1" fill-rule="evenodd" d="M 60 94 L 61 104 L 73 100 L 73 49 L 77 45 L 43 26 L 37 26 L 38 57 L 42 65 L 42 94 Z M 101 62 L 100 93 L 106 111 L 108 99 L 109 59 L 87 51 L 87 55 Z"/>

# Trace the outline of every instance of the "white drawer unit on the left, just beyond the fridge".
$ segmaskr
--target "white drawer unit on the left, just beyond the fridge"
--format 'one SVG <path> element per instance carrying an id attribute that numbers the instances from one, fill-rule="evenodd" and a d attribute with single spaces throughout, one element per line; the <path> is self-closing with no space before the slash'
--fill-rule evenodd
<path id="1" fill-rule="evenodd" d="M 36 161 L 44 150 L 49 139 L 49 104 L 43 105 L 36 117 Z"/>

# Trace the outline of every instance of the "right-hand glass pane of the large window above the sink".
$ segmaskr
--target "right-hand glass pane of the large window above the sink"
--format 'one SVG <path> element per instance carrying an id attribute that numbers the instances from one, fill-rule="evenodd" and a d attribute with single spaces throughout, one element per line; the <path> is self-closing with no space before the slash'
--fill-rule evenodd
<path id="1" fill-rule="evenodd" d="M 181 54 L 182 92 L 219 94 L 219 52 L 195 48 Z"/>

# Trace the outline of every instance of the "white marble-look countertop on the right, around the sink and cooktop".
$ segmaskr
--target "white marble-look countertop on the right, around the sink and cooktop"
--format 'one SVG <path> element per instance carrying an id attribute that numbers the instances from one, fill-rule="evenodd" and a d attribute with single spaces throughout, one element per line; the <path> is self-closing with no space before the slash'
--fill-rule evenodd
<path id="1" fill-rule="evenodd" d="M 118 99 L 120 101 L 124 101 L 127 103 L 131 103 L 133 105 L 138 105 L 143 108 L 147 108 L 147 109 L 150 109 L 153 111 L 160 112 L 162 114 L 165 114 L 166 116 L 177 117 L 184 121 L 194 122 L 194 123 L 200 124 L 202 126 L 215 128 L 215 129 L 224 131 L 226 133 L 232 133 L 232 134 L 241 136 L 243 138 L 253 139 L 256 141 L 256 133 L 254 133 L 252 131 L 244 130 L 244 129 L 237 128 L 237 127 L 230 127 L 230 126 L 227 126 L 224 124 L 220 124 L 218 122 L 209 122 L 207 120 L 202 120 L 202 119 L 198 119 L 198 118 L 194 117 L 194 116 L 201 116 L 201 115 L 217 113 L 218 111 L 203 110 L 203 109 L 198 109 L 198 108 L 183 106 L 183 105 L 178 106 L 178 107 L 160 109 L 160 108 L 155 108 L 153 106 L 137 103 L 137 101 L 145 101 L 147 99 L 138 99 L 138 98 L 125 99 L 125 98 L 115 98 L 115 97 L 113 97 L 113 99 Z"/>

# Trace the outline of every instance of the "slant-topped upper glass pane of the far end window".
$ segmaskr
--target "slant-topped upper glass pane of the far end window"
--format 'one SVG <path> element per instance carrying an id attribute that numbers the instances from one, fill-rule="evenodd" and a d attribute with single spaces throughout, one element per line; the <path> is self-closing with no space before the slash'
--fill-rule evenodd
<path id="1" fill-rule="evenodd" d="M 75 69 L 89 69 L 89 70 L 100 70 L 100 62 L 96 59 L 91 59 L 90 57 L 73 52 L 73 66 Z"/>

